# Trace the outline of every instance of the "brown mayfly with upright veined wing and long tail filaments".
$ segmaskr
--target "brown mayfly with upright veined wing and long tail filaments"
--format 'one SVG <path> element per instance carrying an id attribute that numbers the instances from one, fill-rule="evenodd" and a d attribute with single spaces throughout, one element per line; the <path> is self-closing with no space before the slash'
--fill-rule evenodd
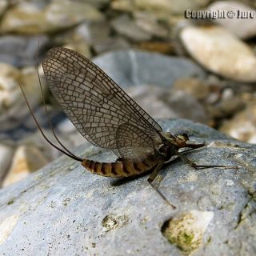
<path id="1" fill-rule="evenodd" d="M 237 168 L 200 166 L 191 162 L 179 149 L 196 149 L 204 144 L 190 143 L 185 133 L 173 135 L 164 132 L 158 122 L 82 54 L 62 47 L 50 49 L 42 61 L 42 68 L 54 98 L 82 136 L 94 146 L 113 150 L 118 158 L 115 162 L 79 158 L 66 149 L 54 133 L 62 148 L 55 146 L 46 138 L 22 91 L 34 121 L 47 142 L 81 162 L 93 174 L 122 178 L 149 171 L 148 182 L 168 202 L 152 182 L 163 164 L 173 156 L 180 157 L 194 168 Z"/>

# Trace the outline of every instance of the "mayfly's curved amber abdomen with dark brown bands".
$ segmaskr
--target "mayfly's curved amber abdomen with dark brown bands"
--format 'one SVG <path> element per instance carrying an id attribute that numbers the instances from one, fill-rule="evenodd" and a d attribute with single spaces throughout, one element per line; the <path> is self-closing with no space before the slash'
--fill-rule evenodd
<path id="1" fill-rule="evenodd" d="M 159 159 L 153 155 L 140 160 L 126 160 L 120 162 L 95 162 L 83 159 L 82 166 L 86 167 L 93 174 L 106 177 L 121 178 L 145 173 L 158 164 Z"/>

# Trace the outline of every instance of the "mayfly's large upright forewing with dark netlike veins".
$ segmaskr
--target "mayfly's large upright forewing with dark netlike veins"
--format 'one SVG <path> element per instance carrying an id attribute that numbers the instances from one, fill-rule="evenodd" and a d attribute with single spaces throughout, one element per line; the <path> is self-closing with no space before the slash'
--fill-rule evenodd
<path id="1" fill-rule="evenodd" d="M 42 61 L 46 81 L 79 132 L 95 146 L 117 150 L 124 123 L 158 141 L 162 128 L 111 78 L 74 50 L 53 48 Z"/>

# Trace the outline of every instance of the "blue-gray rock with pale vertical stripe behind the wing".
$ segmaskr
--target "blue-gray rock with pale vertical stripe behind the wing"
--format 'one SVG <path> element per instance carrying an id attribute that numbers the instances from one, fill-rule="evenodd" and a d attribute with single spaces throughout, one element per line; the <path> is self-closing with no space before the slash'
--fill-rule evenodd
<path id="1" fill-rule="evenodd" d="M 94 63 L 120 86 L 171 86 L 178 78 L 204 78 L 205 72 L 186 58 L 136 50 L 119 50 L 94 58 Z"/>

